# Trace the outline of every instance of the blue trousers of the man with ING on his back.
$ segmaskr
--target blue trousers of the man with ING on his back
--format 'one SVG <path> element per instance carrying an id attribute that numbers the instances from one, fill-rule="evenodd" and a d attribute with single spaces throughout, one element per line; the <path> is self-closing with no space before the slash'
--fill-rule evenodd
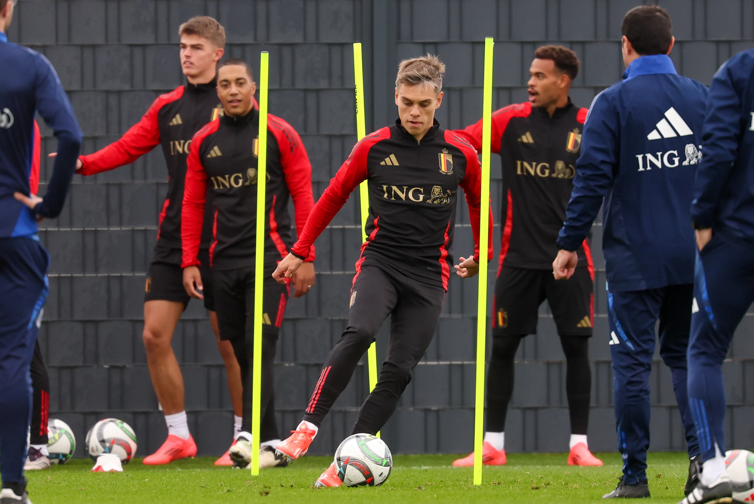
<path id="1" fill-rule="evenodd" d="M 615 376 L 615 423 L 623 455 L 624 481 L 647 479 L 649 448 L 649 375 L 654 326 L 660 321 L 660 356 L 670 368 L 673 390 L 685 427 L 688 456 L 699 454 L 686 391 L 686 350 L 691 325 L 693 286 L 666 286 L 645 291 L 608 292 L 610 354 Z"/>

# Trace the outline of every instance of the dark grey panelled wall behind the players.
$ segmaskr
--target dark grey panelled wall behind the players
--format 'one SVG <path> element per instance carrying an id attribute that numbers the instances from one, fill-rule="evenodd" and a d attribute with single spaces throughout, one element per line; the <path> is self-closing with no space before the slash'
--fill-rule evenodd
<path id="1" fill-rule="evenodd" d="M 259 66 L 270 51 L 270 111 L 301 133 L 314 168 L 315 196 L 355 141 L 351 42 L 365 44 L 368 128 L 394 120 L 394 72 L 404 57 L 431 51 L 447 63 L 441 123 L 463 127 L 481 111 L 483 37 L 494 36 L 495 107 L 526 99 L 529 61 L 536 47 L 557 42 L 581 58 L 572 90 L 588 106 L 621 77 L 620 24 L 636 5 L 626 0 L 21 0 L 11 40 L 46 54 L 57 69 L 84 130 L 84 153 L 117 139 L 152 99 L 182 81 L 176 42 L 179 23 L 208 14 L 225 25 L 227 53 Z M 709 84 L 717 67 L 754 40 L 752 0 L 663 1 L 673 17 L 680 73 Z M 55 142 L 44 130 L 43 153 Z M 499 163 L 493 199 L 498 216 Z M 43 163 L 44 180 L 51 169 Z M 130 166 L 87 179 L 76 176 L 63 215 L 45 221 L 51 251 L 51 296 L 40 340 L 50 366 L 55 417 L 83 441 L 104 416 L 120 417 L 139 436 L 139 454 L 166 432 L 152 392 L 141 342 L 143 285 L 166 170 L 159 151 Z M 324 356 L 347 316 L 348 290 L 360 241 L 357 197 L 317 242 L 317 286 L 292 301 L 277 355 L 277 414 L 281 433 L 292 429 Z M 496 219 L 497 221 L 497 219 Z M 456 250 L 470 249 L 467 212 L 458 212 Z M 615 449 L 612 380 L 605 316 L 605 272 L 595 225 L 596 336 L 590 447 Z M 495 251 L 499 232 L 495 228 Z M 489 273 L 495 278 L 495 265 Z M 490 283 L 492 286 L 492 283 Z M 452 279 L 437 336 L 416 368 L 385 439 L 401 453 L 469 451 L 474 416 L 474 327 L 477 281 Z M 538 334 L 527 338 L 516 363 L 517 386 L 507 425 L 509 451 L 566 451 L 569 421 L 565 364 L 547 306 Z M 734 341 L 728 378 L 728 436 L 754 444 L 751 376 L 754 342 L 747 316 Z M 385 349 L 385 328 L 379 339 Z M 173 347 L 182 362 L 186 408 L 200 454 L 228 446 L 231 404 L 225 371 L 204 310 L 189 305 Z M 652 447 L 684 446 L 670 373 L 658 360 L 652 375 Z M 366 373 L 354 379 L 329 415 L 312 452 L 332 453 L 351 429 L 366 395 Z M 78 455 L 82 451 L 79 449 Z"/>

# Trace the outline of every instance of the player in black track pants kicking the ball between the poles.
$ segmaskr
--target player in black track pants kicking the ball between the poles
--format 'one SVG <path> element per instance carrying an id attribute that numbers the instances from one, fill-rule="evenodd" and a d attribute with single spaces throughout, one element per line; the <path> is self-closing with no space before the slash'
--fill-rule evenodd
<path id="1" fill-rule="evenodd" d="M 395 411 L 443 309 L 459 186 L 466 195 L 477 245 L 472 257 L 460 258 L 456 269 L 464 278 L 479 272 L 479 159 L 466 140 L 434 119 L 443 101 L 444 72 L 445 65 L 429 54 L 400 63 L 395 81 L 399 119 L 354 146 L 314 206 L 299 241 L 274 272 L 278 282 L 286 282 L 311 256 L 314 240 L 351 191 L 368 181 L 368 238 L 356 263 L 348 326 L 327 356 L 302 422 L 277 445 L 277 452 L 290 460 L 306 453 L 388 316 L 391 331 L 385 363 L 375 389 L 361 406 L 353 433 L 376 434 Z M 487 202 L 483 208 L 488 212 Z M 492 212 L 489 215 L 492 220 Z M 489 230 L 491 234 L 492 223 Z M 489 243 L 491 256 L 492 240 Z M 333 463 L 316 486 L 341 483 Z"/>

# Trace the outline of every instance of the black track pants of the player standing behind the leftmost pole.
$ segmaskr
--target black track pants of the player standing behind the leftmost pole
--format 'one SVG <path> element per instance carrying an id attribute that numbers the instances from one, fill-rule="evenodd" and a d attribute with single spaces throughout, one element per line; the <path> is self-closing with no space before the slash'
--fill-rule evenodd
<path id="1" fill-rule="evenodd" d="M 254 359 L 254 270 L 213 270 L 213 287 L 220 338 L 229 340 L 241 367 L 244 385 L 244 420 L 241 430 L 251 432 L 252 383 Z M 288 300 L 287 286 L 282 286 L 265 271 L 265 298 L 262 303 L 262 424 L 259 441 L 280 438 L 274 415 L 274 359 L 277 335 Z"/>

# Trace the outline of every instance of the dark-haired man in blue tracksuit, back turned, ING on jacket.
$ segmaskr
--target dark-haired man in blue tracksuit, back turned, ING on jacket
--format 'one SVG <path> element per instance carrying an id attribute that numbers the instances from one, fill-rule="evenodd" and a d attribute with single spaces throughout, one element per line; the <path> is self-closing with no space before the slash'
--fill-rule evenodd
<path id="1" fill-rule="evenodd" d="M 697 443 L 686 393 L 686 350 L 694 284 L 694 232 L 688 224 L 699 163 L 707 89 L 676 73 L 670 17 L 657 5 L 626 14 L 623 81 L 592 102 L 566 222 L 556 279 L 569 278 L 576 250 L 602 211 L 608 322 L 615 375 L 615 420 L 624 466 L 604 498 L 648 497 L 649 375 L 660 321 L 660 355 L 670 368 L 685 426 L 686 491 L 697 482 Z"/>

